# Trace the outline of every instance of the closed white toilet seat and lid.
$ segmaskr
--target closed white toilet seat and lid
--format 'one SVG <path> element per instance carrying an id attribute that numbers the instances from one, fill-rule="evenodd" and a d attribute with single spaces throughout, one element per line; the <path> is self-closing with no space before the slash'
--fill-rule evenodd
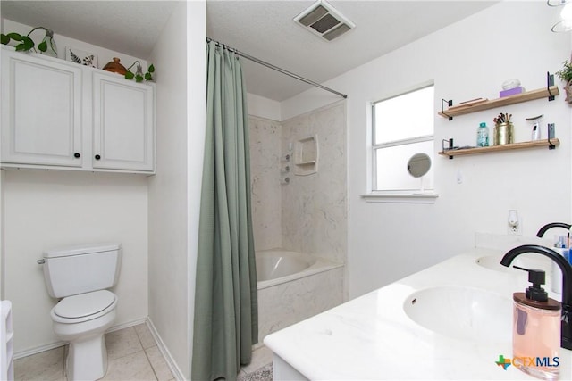
<path id="1" fill-rule="evenodd" d="M 80 323 L 105 315 L 114 309 L 117 296 L 107 290 L 94 291 L 63 298 L 51 311 L 59 323 Z"/>

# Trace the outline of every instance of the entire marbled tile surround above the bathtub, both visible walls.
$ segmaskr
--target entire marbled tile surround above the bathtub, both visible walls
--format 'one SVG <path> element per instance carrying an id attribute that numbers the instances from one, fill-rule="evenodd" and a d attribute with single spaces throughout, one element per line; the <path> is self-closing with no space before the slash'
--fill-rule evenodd
<path id="1" fill-rule="evenodd" d="M 252 219 L 257 250 L 282 247 L 346 261 L 347 176 L 344 101 L 282 123 L 249 117 Z M 318 172 L 294 175 L 290 143 L 317 134 Z M 290 166 L 290 184 L 281 169 Z"/>

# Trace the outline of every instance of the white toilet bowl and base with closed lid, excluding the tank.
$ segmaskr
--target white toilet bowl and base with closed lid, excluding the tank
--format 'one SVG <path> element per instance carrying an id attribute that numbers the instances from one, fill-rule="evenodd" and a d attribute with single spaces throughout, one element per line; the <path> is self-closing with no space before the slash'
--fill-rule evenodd
<path id="1" fill-rule="evenodd" d="M 114 323 L 117 296 L 107 290 L 63 298 L 50 312 L 55 335 L 69 342 L 66 374 L 69 380 L 105 376 L 105 331 Z"/>

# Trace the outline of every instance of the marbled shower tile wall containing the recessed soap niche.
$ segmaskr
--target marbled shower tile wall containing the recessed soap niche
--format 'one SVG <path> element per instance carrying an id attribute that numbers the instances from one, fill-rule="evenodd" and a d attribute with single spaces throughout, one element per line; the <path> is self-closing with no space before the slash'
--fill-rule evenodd
<path id="1" fill-rule="evenodd" d="M 282 122 L 282 153 L 290 143 L 314 135 L 317 173 L 290 176 L 290 184 L 282 186 L 282 246 L 343 263 L 348 230 L 344 101 Z"/>

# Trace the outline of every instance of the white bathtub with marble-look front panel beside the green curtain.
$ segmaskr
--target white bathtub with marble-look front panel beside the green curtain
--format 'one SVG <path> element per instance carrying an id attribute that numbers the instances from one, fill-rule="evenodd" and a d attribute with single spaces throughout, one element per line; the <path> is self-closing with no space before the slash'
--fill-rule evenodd
<path id="1" fill-rule="evenodd" d="M 343 264 L 282 249 L 256 253 L 258 342 L 344 302 Z"/>

